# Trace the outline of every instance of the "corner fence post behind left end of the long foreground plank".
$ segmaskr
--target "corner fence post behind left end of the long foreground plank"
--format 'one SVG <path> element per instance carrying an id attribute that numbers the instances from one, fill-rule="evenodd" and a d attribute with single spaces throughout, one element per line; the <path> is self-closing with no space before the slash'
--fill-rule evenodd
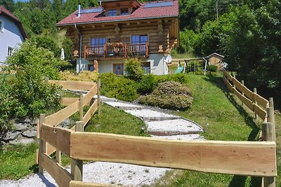
<path id="1" fill-rule="evenodd" d="M 84 132 L 83 121 L 77 121 L 75 125 L 76 132 Z M 83 160 L 72 159 L 71 174 L 74 181 L 82 181 L 83 179 Z"/>

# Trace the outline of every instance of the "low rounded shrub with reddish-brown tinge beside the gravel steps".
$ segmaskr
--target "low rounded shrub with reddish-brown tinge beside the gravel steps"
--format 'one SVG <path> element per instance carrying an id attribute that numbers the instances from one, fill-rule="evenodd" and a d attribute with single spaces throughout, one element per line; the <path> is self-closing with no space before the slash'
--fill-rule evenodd
<path id="1" fill-rule="evenodd" d="M 141 96 L 139 102 L 162 109 L 184 110 L 191 106 L 192 100 L 190 88 L 175 81 L 167 81 L 159 83 L 151 95 Z"/>

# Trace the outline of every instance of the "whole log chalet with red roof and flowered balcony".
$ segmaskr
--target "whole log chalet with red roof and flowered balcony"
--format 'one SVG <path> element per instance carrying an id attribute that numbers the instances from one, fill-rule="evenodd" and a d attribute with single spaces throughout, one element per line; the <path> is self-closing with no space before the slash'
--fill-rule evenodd
<path id="1" fill-rule="evenodd" d="M 178 0 L 102 0 L 56 25 L 74 43 L 77 72 L 124 74 L 124 60 L 138 57 L 146 73 L 167 74 L 166 55 L 179 44 Z"/>

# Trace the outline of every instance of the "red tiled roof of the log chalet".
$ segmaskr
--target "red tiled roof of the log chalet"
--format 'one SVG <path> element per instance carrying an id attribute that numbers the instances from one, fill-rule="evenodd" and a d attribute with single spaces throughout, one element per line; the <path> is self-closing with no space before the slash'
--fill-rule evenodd
<path id="1" fill-rule="evenodd" d="M 117 15 L 111 17 L 105 17 L 104 11 L 98 13 L 83 13 L 80 18 L 77 18 L 77 11 L 68 15 L 65 19 L 58 22 L 57 26 L 62 25 L 74 25 L 74 24 L 86 24 L 94 22 L 115 22 L 126 20 L 142 20 L 148 18 L 166 18 L 166 17 L 178 17 L 178 0 L 169 0 L 173 2 L 173 6 L 159 6 L 152 8 L 145 8 L 145 4 L 165 1 L 152 1 L 141 4 L 141 7 L 134 11 L 131 15 Z M 100 7 L 96 7 L 100 8 Z M 91 8 L 93 9 L 93 8 Z M 85 10 L 85 9 L 83 9 Z"/>

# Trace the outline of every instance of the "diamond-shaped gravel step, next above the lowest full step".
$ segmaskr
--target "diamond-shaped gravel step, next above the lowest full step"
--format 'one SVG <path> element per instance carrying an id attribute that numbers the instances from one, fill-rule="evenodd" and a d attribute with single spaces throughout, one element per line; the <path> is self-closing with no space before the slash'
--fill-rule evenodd
<path id="1" fill-rule="evenodd" d="M 171 119 L 178 119 L 180 117 L 173 116 L 167 113 L 153 111 L 150 109 L 141 109 L 141 110 L 127 110 L 126 113 L 131 113 L 133 116 L 137 116 L 146 121 L 150 120 L 171 120 Z"/>

